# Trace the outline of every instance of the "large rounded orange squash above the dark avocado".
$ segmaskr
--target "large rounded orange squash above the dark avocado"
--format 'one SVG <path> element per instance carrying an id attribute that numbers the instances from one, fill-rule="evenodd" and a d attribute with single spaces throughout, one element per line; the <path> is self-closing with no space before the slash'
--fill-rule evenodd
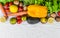
<path id="1" fill-rule="evenodd" d="M 45 6 L 40 6 L 40 5 L 29 5 L 28 6 L 28 15 L 31 17 L 46 17 L 47 16 L 47 8 Z"/>

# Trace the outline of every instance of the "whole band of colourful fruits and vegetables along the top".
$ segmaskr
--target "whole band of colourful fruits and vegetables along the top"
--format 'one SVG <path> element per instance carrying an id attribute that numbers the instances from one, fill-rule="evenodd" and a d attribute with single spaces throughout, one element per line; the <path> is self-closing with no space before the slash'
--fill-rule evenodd
<path id="1" fill-rule="evenodd" d="M 10 24 L 42 24 L 60 22 L 60 0 L 0 0 L 3 16 L 0 22 L 5 23 L 10 16 Z"/>

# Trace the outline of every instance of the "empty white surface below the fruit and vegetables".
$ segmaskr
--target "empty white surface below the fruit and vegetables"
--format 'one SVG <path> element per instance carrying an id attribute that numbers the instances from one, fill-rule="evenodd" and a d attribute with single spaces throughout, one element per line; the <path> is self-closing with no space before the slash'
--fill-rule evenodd
<path id="1" fill-rule="evenodd" d="M 60 38 L 60 23 L 30 25 L 22 22 L 19 25 L 11 25 L 9 20 L 0 23 L 0 38 Z"/>

